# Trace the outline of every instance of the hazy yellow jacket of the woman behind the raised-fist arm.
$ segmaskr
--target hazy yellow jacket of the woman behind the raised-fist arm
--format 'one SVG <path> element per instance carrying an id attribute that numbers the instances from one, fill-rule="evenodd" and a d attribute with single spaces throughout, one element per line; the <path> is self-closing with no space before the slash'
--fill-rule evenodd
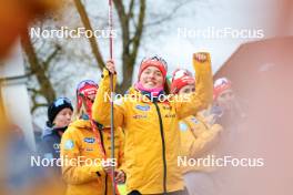
<path id="1" fill-rule="evenodd" d="M 181 135 L 181 167 L 183 173 L 191 171 L 210 172 L 214 170 L 211 166 L 204 166 L 200 162 L 194 164 L 190 158 L 204 158 L 208 155 L 213 155 L 212 151 L 219 141 L 219 133 L 222 131 L 220 124 L 210 125 L 204 122 L 204 119 L 196 115 L 189 116 L 180 121 Z M 184 163 L 185 164 L 184 164 Z M 192 163 L 191 163 L 192 162 Z"/>

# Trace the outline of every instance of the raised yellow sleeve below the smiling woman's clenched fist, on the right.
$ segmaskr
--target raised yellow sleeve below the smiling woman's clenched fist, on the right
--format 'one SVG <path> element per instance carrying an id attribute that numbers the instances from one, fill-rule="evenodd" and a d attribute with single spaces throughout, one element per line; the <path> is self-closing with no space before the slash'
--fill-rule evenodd
<path id="1" fill-rule="evenodd" d="M 179 119 L 184 119 L 206 109 L 213 100 L 213 79 L 211 58 L 209 53 L 206 61 L 199 62 L 193 55 L 193 68 L 195 69 L 195 92 L 191 93 L 186 101 L 175 101 Z"/>

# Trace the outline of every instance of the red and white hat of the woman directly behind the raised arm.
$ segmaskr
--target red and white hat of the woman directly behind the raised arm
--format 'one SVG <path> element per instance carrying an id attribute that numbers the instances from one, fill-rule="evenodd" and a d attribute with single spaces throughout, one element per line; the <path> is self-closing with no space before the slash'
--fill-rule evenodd
<path id="1" fill-rule="evenodd" d="M 171 92 L 175 94 L 180 91 L 181 88 L 194 83 L 195 83 L 195 79 L 193 78 L 192 73 L 189 70 L 176 69 L 173 72 L 173 76 L 172 76 Z"/>

